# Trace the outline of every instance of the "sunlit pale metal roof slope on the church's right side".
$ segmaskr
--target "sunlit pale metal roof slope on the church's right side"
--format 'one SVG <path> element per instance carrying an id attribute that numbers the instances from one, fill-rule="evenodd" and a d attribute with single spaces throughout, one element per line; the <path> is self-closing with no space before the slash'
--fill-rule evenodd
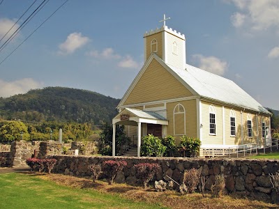
<path id="1" fill-rule="evenodd" d="M 168 65 L 168 67 L 202 98 L 271 114 L 262 104 L 259 104 L 259 102 L 229 79 L 188 64 L 186 64 L 186 70 L 175 68 L 172 65 Z"/>

